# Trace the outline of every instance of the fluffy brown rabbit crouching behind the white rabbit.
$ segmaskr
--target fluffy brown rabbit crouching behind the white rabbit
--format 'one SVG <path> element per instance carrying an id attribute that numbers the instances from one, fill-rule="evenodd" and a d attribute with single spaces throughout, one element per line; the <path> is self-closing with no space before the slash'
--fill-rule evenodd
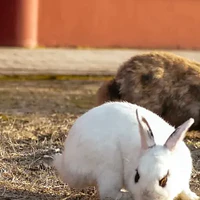
<path id="1" fill-rule="evenodd" d="M 128 101 L 178 126 L 193 117 L 200 130 L 200 64 L 166 52 L 133 56 L 97 92 L 97 105 Z"/>

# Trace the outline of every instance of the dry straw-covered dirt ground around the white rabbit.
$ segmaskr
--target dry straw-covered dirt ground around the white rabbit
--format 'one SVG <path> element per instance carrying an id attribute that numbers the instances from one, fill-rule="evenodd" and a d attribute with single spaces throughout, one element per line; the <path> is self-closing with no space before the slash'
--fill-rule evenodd
<path id="1" fill-rule="evenodd" d="M 74 120 L 94 106 L 100 81 L 0 81 L 0 199 L 98 199 L 94 188 L 70 189 L 51 167 Z M 192 190 L 200 195 L 200 136 L 186 142 L 194 158 Z"/>

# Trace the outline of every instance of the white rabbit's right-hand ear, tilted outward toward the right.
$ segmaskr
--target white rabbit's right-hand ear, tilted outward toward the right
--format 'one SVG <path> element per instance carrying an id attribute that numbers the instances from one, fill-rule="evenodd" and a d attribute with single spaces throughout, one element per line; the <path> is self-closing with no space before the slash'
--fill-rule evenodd
<path id="1" fill-rule="evenodd" d="M 165 147 L 167 147 L 170 151 L 173 151 L 179 141 L 182 141 L 185 137 L 186 132 L 194 123 L 194 119 L 190 118 L 179 127 L 169 136 L 167 141 L 165 142 Z"/>

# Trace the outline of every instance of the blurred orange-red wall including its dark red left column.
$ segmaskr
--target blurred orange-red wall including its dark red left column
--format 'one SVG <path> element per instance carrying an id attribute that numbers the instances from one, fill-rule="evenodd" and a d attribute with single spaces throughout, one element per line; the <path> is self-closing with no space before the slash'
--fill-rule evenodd
<path id="1" fill-rule="evenodd" d="M 0 45 L 200 49 L 198 0 L 1 0 Z"/>

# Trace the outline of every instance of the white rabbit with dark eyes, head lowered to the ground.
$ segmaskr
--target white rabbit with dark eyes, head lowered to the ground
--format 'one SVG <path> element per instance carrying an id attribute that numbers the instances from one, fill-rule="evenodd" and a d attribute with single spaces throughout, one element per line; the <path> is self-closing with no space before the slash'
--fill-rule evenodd
<path id="1" fill-rule="evenodd" d="M 54 166 L 70 187 L 97 186 L 101 199 L 199 197 L 189 188 L 192 159 L 183 142 L 194 120 L 174 129 L 155 113 L 127 102 L 109 102 L 79 117 Z"/>

